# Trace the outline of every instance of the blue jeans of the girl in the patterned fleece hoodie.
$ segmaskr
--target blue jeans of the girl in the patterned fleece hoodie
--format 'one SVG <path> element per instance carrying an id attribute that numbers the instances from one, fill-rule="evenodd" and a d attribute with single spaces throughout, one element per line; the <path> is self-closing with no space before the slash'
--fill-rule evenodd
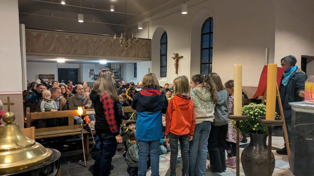
<path id="1" fill-rule="evenodd" d="M 207 144 L 211 122 L 198 123 L 195 126 L 192 141 L 189 142 L 190 176 L 202 176 L 206 173 Z"/>

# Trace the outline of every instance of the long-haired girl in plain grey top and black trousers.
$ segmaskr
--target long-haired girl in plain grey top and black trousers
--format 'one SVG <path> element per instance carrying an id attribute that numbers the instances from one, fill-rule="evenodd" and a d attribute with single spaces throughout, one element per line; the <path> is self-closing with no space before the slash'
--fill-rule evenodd
<path id="1" fill-rule="evenodd" d="M 220 76 L 217 73 L 208 75 L 208 84 L 211 83 L 217 88 L 217 102 L 215 105 L 214 122 L 208 138 L 208 153 L 210 164 L 207 168 L 213 172 L 226 170 L 225 149 L 227 148 L 226 135 L 228 131 L 228 92 L 222 85 Z"/>

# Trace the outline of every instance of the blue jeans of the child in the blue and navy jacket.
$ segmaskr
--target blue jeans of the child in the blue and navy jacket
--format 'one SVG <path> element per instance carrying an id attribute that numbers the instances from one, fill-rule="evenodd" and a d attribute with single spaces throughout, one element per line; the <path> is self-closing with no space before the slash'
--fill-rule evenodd
<path id="1" fill-rule="evenodd" d="M 150 154 L 151 176 L 159 175 L 159 142 L 156 141 L 139 141 L 138 147 L 138 175 L 146 176 L 147 157 Z"/>

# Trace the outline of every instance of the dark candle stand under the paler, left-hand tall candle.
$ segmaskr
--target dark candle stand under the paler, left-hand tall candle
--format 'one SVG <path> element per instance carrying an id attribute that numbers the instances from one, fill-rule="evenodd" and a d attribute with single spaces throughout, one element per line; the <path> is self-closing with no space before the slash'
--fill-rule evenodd
<path id="1" fill-rule="evenodd" d="M 236 176 L 240 175 L 240 121 L 247 120 L 249 116 L 242 113 L 241 116 L 235 116 L 233 113 L 228 114 L 230 120 L 236 121 Z"/>

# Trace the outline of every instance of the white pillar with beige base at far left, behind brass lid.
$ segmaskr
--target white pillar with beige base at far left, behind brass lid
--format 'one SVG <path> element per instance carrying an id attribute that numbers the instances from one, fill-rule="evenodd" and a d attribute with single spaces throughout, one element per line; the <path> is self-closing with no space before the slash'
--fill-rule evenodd
<path id="1" fill-rule="evenodd" d="M 6 103 L 7 96 L 10 97 L 10 101 L 14 103 L 10 106 L 10 110 L 15 114 L 14 122 L 23 128 L 18 0 L 1 0 L 0 26 L 0 99 Z M 7 106 L 3 106 L 3 111 L 7 111 Z"/>

